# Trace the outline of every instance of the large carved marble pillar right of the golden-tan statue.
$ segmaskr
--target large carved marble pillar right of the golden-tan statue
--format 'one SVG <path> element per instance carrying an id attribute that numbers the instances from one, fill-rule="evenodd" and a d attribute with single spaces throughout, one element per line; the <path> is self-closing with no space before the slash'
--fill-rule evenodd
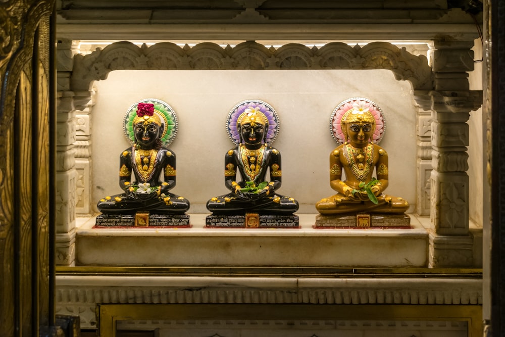
<path id="1" fill-rule="evenodd" d="M 468 230 L 469 112 L 482 104 L 482 92 L 469 90 L 474 68 L 473 41 L 432 44 L 434 89 L 432 123 L 430 266 L 471 267 L 473 237 Z"/>

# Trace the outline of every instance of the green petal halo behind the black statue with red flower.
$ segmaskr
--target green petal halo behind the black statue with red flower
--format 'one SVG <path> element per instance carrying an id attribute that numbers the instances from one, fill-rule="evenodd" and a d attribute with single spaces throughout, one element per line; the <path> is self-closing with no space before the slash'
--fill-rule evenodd
<path id="1" fill-rule="evenodd" d="M 126 115 L 123 121 L 124 124 L 124 132 L 126 138 L 130 143 L 135 142 L 135 134 L 133 131 L 133 119 L 137 115 L 137 105 L 139 103 L 150 103 L 154 104 L 155 114 L 157 114 L 163 123 L 163 131 L 161 132 L 161 142 L 163 146 L 169 146 L 172 141 L 175 139 L 175 135 L 177 134 L 177 115 L 175 114 L 174 109 L 169 106 L 167 103 L 158 100 L 158 99 L 143 99 L 135 104 L 133 104 L 126 111 Z"/>

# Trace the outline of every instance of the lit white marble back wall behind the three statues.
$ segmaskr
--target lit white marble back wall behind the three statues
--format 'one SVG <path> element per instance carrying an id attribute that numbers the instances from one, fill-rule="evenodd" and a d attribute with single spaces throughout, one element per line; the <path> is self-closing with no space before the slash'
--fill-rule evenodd
<path id="1" fill-rule="evenodd" d="M 365 97 L 386 119 L 380 145 L 389 154 L 387 193 L 408 200 L 414 212 L 416 110 L 411 83 L 395 80 L 389 70 L 119 70 L 94 86 L 92 204 L 121 192 L 119 155 L 129 147 L 123 132 L 126 111 L 141 99 L 156 98 L 167 102 L 178 118 L 170 146 L 177 154 L 173 191 L 190 200 L 189 213 L 209 213 L 207 200 L 226 191 L 224 156 L 233 146 L 227 115 L 237 103 L 259 99 L 279 115 L 280 131 L 273 143 L 282 154 L 279 193 L 298 200 L 298 213 L 316 214 L 314 204 L 333 194 L 328 159 L 337 143 L 330 132 L 331 114 L 343 100 Z"/>

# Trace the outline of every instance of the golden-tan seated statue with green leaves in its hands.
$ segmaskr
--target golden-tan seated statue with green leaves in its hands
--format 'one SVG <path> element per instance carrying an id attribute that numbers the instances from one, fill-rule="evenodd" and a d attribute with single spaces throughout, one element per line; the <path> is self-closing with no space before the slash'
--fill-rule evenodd
<path id="1" fill-rule="evenodd" d="M 388 186 L 388 158 L 386 151 L 372 142 L 375 124 L 375 117 L 366 109 L 351 108 L 342 116 L 345 141 L 330 154 L 330 186 L 337 194 L 316 203 L 319 213 L 405 213 L 409 209 L 406 200 L 383 194 Z"/>

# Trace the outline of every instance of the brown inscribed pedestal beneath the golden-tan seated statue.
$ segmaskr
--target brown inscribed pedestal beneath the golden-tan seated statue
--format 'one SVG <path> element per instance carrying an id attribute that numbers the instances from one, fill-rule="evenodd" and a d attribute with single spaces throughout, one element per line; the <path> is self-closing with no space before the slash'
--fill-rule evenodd
<path id="1" fill-rule="evenodd" d="M 314 228 L 411 228 L 407 214 L 343 214 L 316 216 Z"/>

